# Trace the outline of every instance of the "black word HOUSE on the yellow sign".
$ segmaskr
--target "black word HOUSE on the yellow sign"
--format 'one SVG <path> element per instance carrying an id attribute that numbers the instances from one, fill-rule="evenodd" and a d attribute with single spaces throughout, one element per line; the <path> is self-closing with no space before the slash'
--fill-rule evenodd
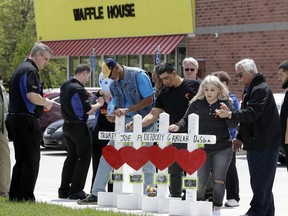
<path id="1" fill-rule="evenodd" d="M 135 17 L 134 4 L 107 6 L 108 19 Z"/>

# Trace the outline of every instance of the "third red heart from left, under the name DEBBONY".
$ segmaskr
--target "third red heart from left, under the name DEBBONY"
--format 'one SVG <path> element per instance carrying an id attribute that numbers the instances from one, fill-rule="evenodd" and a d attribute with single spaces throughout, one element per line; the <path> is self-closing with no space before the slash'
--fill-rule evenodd
<path id="1" fill-rule="evenodd" d="M 152 145 L 148 149 L 148 157 L 159 170 L 163 170 L 175 162 L 176 151 L 176 147 L 171 145 L 163 149 Z"/>

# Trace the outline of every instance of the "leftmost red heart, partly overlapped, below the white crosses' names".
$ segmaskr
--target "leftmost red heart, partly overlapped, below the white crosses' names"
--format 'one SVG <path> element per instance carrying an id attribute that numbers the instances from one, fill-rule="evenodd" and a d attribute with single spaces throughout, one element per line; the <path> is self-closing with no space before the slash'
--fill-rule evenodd
<path id="1" fill-rule="evenodd" d="M 114 148 L 114 146 L 107 145 L 102 149 L 102 155 L 105 158 L 105 160 L 110 164 L 111 167 L 114 169 L 119 169 L 123 164 L 124 161 L 122 160 L 122 157 L 117 151 L 117 149 Z"/>

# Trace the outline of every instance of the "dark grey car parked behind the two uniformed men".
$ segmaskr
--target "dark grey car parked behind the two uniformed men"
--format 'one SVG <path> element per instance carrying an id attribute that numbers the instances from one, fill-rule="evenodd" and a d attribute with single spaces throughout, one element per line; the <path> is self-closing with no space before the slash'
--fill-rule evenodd
<path id="1" fill-rule="evenodd" d="M 89 115 L 87 120 L 88 128 L 92 131 L 95 122 L 95 115 Z M 63 126 L 64 120 L 59 119 L 47 126 L 43 134 L 43 142 L 45 148 L 52 148 L 58 150 L 67 151 L 67 143 L 63 137 Z"/>

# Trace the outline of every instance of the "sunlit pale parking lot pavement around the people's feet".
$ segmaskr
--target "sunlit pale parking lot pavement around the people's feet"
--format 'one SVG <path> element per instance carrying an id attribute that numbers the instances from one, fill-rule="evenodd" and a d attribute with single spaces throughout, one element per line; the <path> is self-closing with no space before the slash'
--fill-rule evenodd
<path id="1" fill-rule="evenodd" d="M 10 142 L 11 149 L 11 161 L 12 166 L 14 165 L 14 150 L 13 145 Z M 41 163 L 40 163 L 40 171 L 38 176 L 38 181 L 35 188 L 35 196 L 37 201 L 48 202 L 53 204 L 59 204 L 63 206 L 68 206 L 71 208 L 86 208 L 87 206 L 77 205 L 76 201 L 68 200 L 68 199 L 59 199 L 58 198 L 58 187 L 60 185 L 60 176 L 62 165 L 65 160 L 66 152 L 65 151 L 55 151 L 55 150 L 47 150 L 45 148 L 41 149 Z M 249 183 L 249 173 L 246 161 L 245 152 L 237 155 L 237 168 L 239 174 L 240 181 L 240 206 L 235 208 L 227 208 L 223 207 L 221 210 L 222 216 L 237 216 L 246 213 L 249 208 L 249 202 L 252 196 L 252 192 L 250 189 Z M 265 178 L 265 176 L 263 176 Z M 87 177 L 87 182 L 85 186 L 85 192 L 89 193 L 91 187 L 91 179 L 92 179 L 92 170 L 90 168 L 89 174 Z M 275 183 L 274 183 L 274 199 L 275 199 L 275 207 L 276 207 L 276 216 L 285 216 L 288 213 L 288 205 L 287 205 L 287 197 L 288 197 L 288 173 L 287 169 L 283 165 L 278 165 Z M 226 200 L 225 200 L 226 201 Z M 91 208 L 97 209 L 112 209 L 115 211 L 119 211 L 115 208 L 101 208 L 98 206 L 89 206 Z M 137 211 L 127 211 L 130 213 L 136 214 L 146 214 L 140 210 Z M 150 213 L 149 213 L 150 215 Z M 151 215 L 168 215 L 168 214 L 155 214 L 151 213 Z"/>

